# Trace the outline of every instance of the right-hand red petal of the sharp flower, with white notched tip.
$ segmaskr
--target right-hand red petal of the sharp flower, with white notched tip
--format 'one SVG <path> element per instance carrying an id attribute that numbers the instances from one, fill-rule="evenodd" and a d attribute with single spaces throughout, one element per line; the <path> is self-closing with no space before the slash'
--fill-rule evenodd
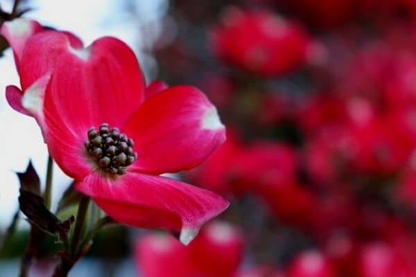
<path id="1" fill-rule="evenodd" d="M 177 172 L 197 166 L 225 141 L 216 108 L 198 89 L 177 86 L 141 105 L 124 132 L 139 154 L 139 172 Z"/>

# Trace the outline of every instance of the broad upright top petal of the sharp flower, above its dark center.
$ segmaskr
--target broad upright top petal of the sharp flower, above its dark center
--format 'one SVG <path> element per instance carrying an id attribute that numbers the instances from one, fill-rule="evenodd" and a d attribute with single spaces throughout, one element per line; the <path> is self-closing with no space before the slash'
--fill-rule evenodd
<path id="1" fill-rule="evenodd" d="M 135 54 L 112 37 L 82 50 L 67 48 L 53 71 L 51 105 L 83 135 L 105 122 L 123 127 L 144 99 L 144 78 Z"/>

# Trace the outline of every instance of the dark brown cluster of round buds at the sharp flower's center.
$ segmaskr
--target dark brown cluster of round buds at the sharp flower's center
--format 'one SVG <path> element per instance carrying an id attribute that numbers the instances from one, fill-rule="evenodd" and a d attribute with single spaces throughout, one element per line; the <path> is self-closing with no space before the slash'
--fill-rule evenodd
<path id="1" fill-rule="evenodd" d="M 137 152 L 133 151 L 135 143 L 118 128 L 110 129 L 107 123 L 103 123 L 98 130 L 91 127 L 87 135 L 85 148 L 105 172 L 123 175 L 125 168 L 137 159 Z"/>

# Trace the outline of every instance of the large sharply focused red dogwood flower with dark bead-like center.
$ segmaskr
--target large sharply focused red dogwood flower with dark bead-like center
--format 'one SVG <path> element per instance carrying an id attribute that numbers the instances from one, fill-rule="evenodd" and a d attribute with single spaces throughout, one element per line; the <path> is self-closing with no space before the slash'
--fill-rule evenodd
<path id="1" fill-rule="evenodd" d="M 225 141 L 201 91 L 157 82 L 146 93 L 135 54 L 112 37 L 84 49 L 44 31 L 28 39 L 23 55 L 29 66 L 49 66 L 53 57 L 44 99 L 31 94 L 30 107 L 42 111 L 53 159 L 114 220 L 180 231 L 187 244 L 227 208 L 208 190 L 159 176 L 197 166 Z"/>

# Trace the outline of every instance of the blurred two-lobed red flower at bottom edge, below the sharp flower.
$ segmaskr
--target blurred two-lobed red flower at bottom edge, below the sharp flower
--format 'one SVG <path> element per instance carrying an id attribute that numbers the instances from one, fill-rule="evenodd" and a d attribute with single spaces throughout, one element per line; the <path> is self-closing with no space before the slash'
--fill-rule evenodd
<path id="1" fill-rule="evenodd" d="M 243 244 L 239 229 L 217 221 L 207 224 L 188 247 L 166 235 L 144 235 L 137 240 L 135 258 L 144 277 L 234 277 Z"/>

